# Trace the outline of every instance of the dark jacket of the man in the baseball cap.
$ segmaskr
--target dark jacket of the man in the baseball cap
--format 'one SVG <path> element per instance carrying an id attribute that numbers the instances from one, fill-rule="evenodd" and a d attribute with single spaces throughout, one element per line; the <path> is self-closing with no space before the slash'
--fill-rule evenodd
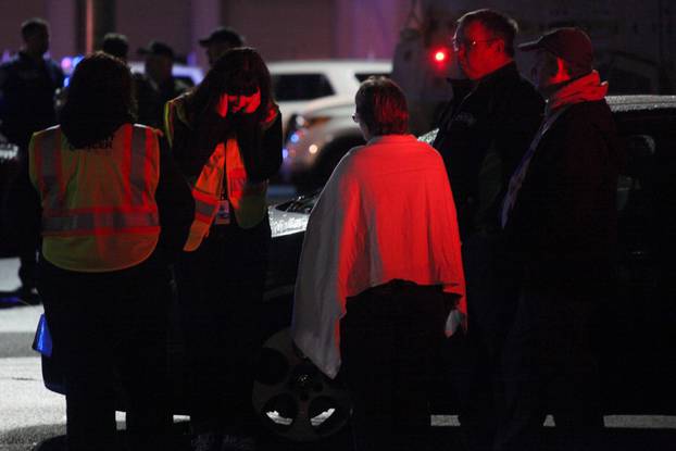
<path id="1" fill-rule="evenodd" d="M 608 280 L 625 160 L 605 100 L 571 105 L 542 136 L 504 229 L 527 284 L 580 292 Z"/>

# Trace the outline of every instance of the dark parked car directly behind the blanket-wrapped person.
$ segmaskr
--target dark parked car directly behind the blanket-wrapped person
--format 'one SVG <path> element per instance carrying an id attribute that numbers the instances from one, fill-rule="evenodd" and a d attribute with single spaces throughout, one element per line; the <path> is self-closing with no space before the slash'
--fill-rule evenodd
<path id="1" fill-rule="evenodd" d="M 629 159 L 617 184 L 617 285 L 609 293 L 593 336 L 603 411 L 675 415 L 676 96 L 608 100 Z M 430 142 L 436 133 L 421 140 Z M 317 197 L 315 192 L 270 208 L 273 248 L 266 321 L 271 339 L 261 353 L 253 392 L 262 422 L 297 440 L 327 438 L 350 415 L 346 391 L 318 374 L 280 331 L 290 321 L 302 238 Z M 170 349 L 179 410 L 185 405 L 178 379 L 179 347 L 172 342 Z M 57 356 L 58 348 L 54 352 Z M 46 386 L 63 392 L 58 361 L 43 356 L 42 365 Z M 456 413 L 448 381 L 439 379 L 433 389 L 433 412 Z"/>

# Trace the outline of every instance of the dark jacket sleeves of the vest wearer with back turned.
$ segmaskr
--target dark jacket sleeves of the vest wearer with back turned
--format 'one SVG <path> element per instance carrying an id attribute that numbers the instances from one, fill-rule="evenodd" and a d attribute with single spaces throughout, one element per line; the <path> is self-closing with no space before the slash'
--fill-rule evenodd
<path id="1" fill-rule="evenodd" d="M 160 239 L 155 254 L 165 263 L 175 261 L 188 238 L 195 214 L 195 200 L 164 139 L 160 140 L 160 179 L 155 202 L 160 214 Z M 4 199 L 3 216 L 10 239 L 37 248 L 41 231 L 40 197 L 28 176 L 28 159 Z"/>

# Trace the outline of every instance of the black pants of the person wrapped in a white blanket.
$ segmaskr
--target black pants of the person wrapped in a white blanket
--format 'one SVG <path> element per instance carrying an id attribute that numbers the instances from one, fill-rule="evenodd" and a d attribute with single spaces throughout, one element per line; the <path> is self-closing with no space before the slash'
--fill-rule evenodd
<path id="1" fill-rule="evenodd" d="M 358 451 L 425 450 L 433 356 L 450 312 L 439 287 L 392 280 L 348 299 L 340 325 Z"/>

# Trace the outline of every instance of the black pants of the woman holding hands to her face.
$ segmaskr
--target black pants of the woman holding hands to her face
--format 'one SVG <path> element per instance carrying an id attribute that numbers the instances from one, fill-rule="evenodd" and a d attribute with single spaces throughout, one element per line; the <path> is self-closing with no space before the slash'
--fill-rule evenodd
<path id="1" fill-rule="evenodd" d="M 263 340 L 270 241 L 267 217 L 250 229 L 212 227 L 176 266 L 190 419 L 198 434 L 255 424 L 251 390 Z"/>

